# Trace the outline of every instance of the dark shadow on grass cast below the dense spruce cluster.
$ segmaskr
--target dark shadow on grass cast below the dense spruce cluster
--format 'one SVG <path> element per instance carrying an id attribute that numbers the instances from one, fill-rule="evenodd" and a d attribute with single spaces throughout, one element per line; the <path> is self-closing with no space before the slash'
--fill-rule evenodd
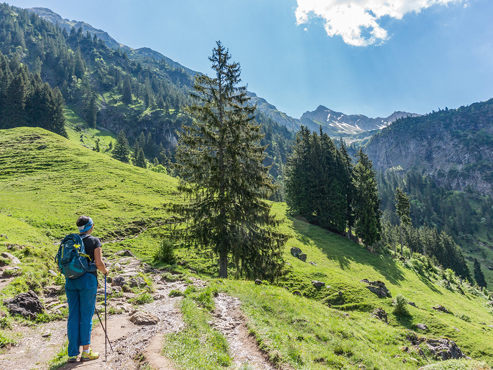
<path id="1" fill-rule="evenodd" d="M 305 223 L 300 225 L 302 227 L 296 227 L 300 221 L 291 217 L 289 219 L 293 222 L 296 237 L 301 243 L 314 245 L 325 254 L 327 259 L 337 261 L 342 270 L 355 262 L 371 266 L 394 285 L 400 286 L 400 282 L 404 280 L 404 274 L 393 259 L 370 252 L 346 237 L 314 225 L 306 227 Z M 373 279 L 371 276 L 361 276 L 361 278 Z"/>

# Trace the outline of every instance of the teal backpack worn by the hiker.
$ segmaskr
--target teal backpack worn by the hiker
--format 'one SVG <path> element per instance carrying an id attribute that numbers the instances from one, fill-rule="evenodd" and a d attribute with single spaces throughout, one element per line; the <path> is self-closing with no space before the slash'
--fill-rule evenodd
<path id="1" fill-rule="evenodd" d="M 83 238 L 88 234 L 69 234 L 63 238 L 55 256 L 58 269 L 66 278 L 76 279 L 88 271 L 96 271 L 96 265 L 86 254 Z"/>

